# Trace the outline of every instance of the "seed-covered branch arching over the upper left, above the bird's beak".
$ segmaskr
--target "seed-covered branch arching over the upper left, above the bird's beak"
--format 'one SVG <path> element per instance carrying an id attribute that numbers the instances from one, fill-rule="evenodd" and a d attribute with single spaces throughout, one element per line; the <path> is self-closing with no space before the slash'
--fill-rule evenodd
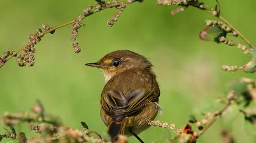
<path id="1" fill-rule="evenodd" d="M 36 30 L 35 34 L 30 34 L 29 37 L 29 42 L 27 42 L 26 45 L 24 45 L 23 47 L 19 48 L 16 51 L 12 51 L 12 50 L 8 50 L 7 52 L 5 52 L 2 56 L 0 56 L 0 68 L 2 66 L 4 66 L 5 62 L 9 61 L 10 59 L 12 59 L 13 57 L 17 56 L 18 53 L 22 52 L 21 55 L 19 55 L 17 57 L 17 62 L 18 65 L 20 66 L 25 66 L 26 63 L 29 64 L 29 66 L 33 66 L 34 65 L 34 55 L 35 55 L 35 44 L 37 44 L 38 42 L 41 41 L 41 38 L 43 38 L 44 35 L 51 33 L 53 34 L 55 32 L 55 30 L 65 27 L 66 25 L 69 24 L 73 24 L 73 30 L 72 30 L 72 37 L 71 40 L 73 41 L 73 48 L 74 48 L 74 52 L 75 53 L 79 53 L 80 52 L 80 48 L 78 45 L 78 42 L 76 41 L 77 36 L 78 36 L 78 32 L 77 30 L 82 27 L 82 20 L 84 20 L 85 18 L 87 18 L 88 16 L 94 15 L 95 13 L 101 12 L 102 10 L 108 9 L 108 8 L 117 8 L 119 10 L 119 14 L 116 15 L 110 19 L 110 24 L 108 24 L 108 26 L 112 26 L 117 18 L 119 17 L 119 15 L 123 12 L 124 8 L 126 8 L 127 4 L 132 4 L 133 2 L 142 2 L 141 0 L 127 0 L 127 1 L 123 1 L 123 2 L 105 2 L 102 0 L 96 0 L 96 2 L 98 2 L 98 4 L 96 5 L 88 5 L 87 9 L 83 10 L 83 14 L 77 16 L 76 19 L 72 20 L 72 21 L 68 21 L 65 22 L 63 24 L 57 25 L 55 27 L 49 27 L 48 24 L 43 24 L 43 30 L 38 29 Z M 93 7 L 94 10 L 93 10 Z M 109 22 L 108 22 L 109 23 Z"/>

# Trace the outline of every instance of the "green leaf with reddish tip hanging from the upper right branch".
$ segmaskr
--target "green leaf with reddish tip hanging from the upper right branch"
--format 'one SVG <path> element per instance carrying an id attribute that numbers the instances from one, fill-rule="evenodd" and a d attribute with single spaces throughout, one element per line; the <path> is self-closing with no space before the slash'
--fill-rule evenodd
<path id="1" fill-rule="evenodd" d="M 208 26 L 204 30 L 202 30 L 199 34 L 199 38 L 204 41 L 214 41 L 219 43 L 219 38 L 221 36 L 226 37 L 227 32 L 221 29 L 218 25 Z"/>

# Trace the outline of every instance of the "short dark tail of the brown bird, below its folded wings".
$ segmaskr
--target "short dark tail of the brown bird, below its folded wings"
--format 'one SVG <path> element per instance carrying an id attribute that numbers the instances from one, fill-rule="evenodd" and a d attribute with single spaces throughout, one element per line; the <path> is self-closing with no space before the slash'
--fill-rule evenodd
<path id="1" fill-rule="evenodd" d="M 107 133 L 115 141 L 118 135 L 124 135 L 124 128 L 126 127 L 124 121 L 113 121 L 108 125 Z"/>

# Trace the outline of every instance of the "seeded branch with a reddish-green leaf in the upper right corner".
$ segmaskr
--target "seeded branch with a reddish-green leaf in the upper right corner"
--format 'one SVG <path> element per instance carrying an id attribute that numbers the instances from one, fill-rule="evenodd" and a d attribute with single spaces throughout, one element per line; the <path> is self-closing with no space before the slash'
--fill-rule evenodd
<path id="1" fill-rule="evenodd" d="M 222 15 L 221 15 L 221 5 L 219 4 L 219 1 L 216 0 L 215 8 L 210 8 L 207 5 L 204 4 L 204 2 L 199 2 L 198 0 L 157 0 L 157 4 L 160 5 L 180 5 L 182 8 L 177 8 L 176 10 L 173 10 L 171 13 L 172 15 L 175 15 L 178 12 L 183 12 L 185 8 L 191 6 L 194 8 L 198 8 L 200 10 L 203 10 L 204 12 L 210 13 L 210 15 L 215 16 L 220 21 L 211 21 L 206 20 L 205 24 L 207 25 L 207 28 L 202 30 L 200 33 L 200 39 L 204 41 L 215 41 L 217 43 L 224 43 L 230 46 L 236 46 L 237 48 L 240 48 L 243 50 L 243 53 L 245 55 L 251 54 L 252 59 L 251 61 L 247 62 L 246 64 L 242 66 L 229 66 L 229 65 L 222 65 L 222 70 L 224 71 L 236 71 L 236 70 L 243 70 L 247 73 L 254 73 L 256 71 L 256 50 L 254 49 L 254 45 L 252 44 L 249 39 L 246 38 L 240 31 L 238 31 L 237 28 L 235 28 L 229 21 L 227 21 Z M 246 44 L 249 45 L 249 48 L 246 47 L 246 45 L 242 44 L 235 44 L 235 42 L 230 41 L 226 38 L 227 34 L 232 34 L 233 36 L 240 37 Z"/>

